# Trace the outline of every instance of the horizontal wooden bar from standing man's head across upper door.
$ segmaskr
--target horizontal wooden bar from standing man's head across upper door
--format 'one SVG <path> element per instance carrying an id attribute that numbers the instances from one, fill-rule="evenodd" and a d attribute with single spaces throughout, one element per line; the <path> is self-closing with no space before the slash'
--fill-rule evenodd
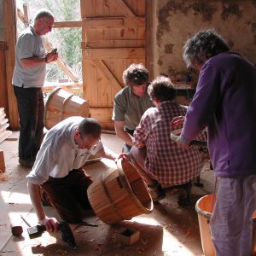
<path id="1" fill-rule="evenodd" d="M 116 18 L 87 18 L 84 20 L 69 20 L 55 22 L 55 28 L 60 27 L 85 27 L 95 28 L 120 28 L 120 27 L 143 27 L 144 17 L 116 17 Z"/>

